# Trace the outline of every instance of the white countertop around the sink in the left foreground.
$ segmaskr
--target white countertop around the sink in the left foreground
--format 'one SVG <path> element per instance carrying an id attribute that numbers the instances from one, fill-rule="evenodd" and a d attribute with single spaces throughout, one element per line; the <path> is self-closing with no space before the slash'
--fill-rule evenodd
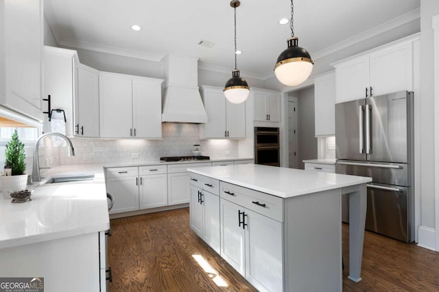
<path id="1" fill-rule="evenodd" d="M 102 165 L 63 165 L 45 171 L 56 174 L 95 172 L 96 176 L 93 181 L 40 185 L 35 187 L 29 202 L 12 203 L 1 196 L 0 248 L 110 228 Z"/>

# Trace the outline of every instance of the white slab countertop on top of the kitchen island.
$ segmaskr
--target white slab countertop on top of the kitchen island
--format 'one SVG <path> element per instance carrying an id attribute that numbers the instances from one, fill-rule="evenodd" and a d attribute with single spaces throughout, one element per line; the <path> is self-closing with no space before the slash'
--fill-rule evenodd
<path id="1" fill-rule="evenodd" d="M 290 198 L 372 181 L 372 178 L 364 176 L 278 168 L 259 164 L 206 166 L 189 168 L 188 170 L 189 172 L 281 198 Z"/>

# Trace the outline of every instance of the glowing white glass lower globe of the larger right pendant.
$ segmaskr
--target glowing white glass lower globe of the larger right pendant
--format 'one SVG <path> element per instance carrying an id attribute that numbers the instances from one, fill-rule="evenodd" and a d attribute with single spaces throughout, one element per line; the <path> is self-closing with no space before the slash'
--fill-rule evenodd
<path id="1" fill-rule="evenodd" d="M 310 62 L 297 61 L 288 62 L 274 69 L 277 79 L 287 86 L 296 86 L 305 82 L 311 71 L 313 64 Z"/>

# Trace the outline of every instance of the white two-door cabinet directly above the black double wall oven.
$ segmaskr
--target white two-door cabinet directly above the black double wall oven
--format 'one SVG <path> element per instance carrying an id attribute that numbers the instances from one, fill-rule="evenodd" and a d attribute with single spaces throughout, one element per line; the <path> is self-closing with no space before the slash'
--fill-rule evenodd
<path id="1" fill-rule="evenodd" d="M 253 120 L 261 122 L 281 121 L 281 93 L 274 90 L 251 88 Z"/>

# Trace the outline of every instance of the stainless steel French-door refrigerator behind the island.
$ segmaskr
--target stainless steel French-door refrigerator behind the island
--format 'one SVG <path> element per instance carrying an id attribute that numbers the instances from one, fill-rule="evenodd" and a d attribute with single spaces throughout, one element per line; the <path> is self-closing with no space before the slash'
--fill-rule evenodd
<path id="1" fill-rule="evenodd" d="M 335 172 L 370 176 L 366 230 L 414 241 L 413 92 L 335 105 Z M 348 198 L 342 220 L 348 222 Z"/>

